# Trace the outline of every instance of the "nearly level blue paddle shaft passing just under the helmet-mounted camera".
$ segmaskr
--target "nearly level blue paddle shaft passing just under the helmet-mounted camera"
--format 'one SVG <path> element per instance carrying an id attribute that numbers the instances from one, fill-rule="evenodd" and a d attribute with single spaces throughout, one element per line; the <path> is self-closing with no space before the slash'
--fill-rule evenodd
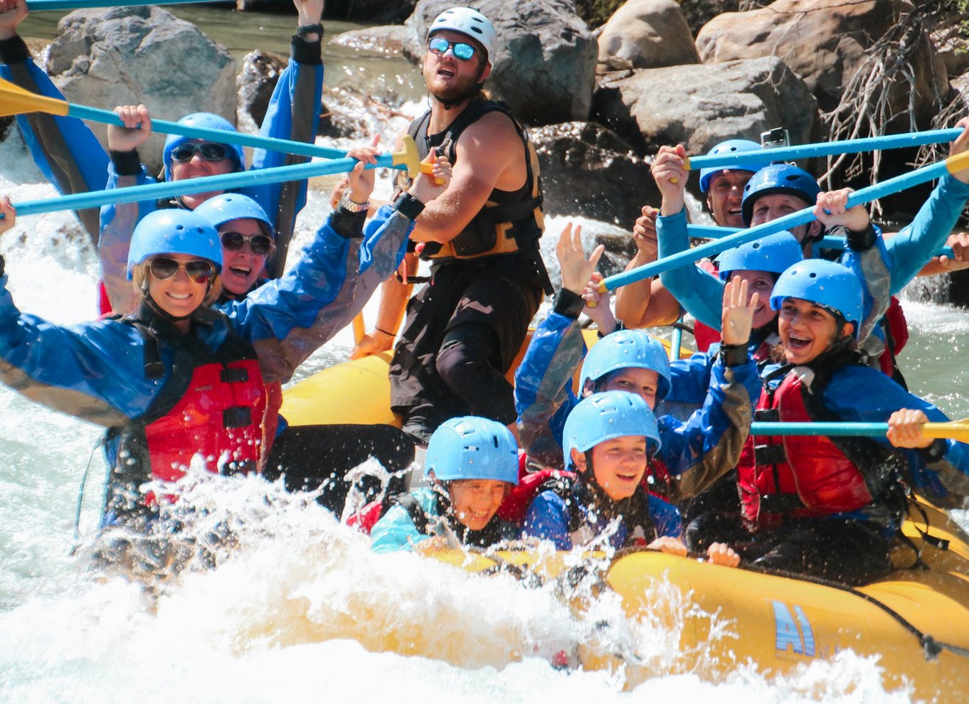
<path id="1" fill-rule="evenodd" d="M 844 139 L 842 141 L 827 141 L 816 144 L 797 144 L 796 146 L 779 146 L 773 149 L 753 149 L 744 152 L 729 152 L 712 156 L 690 157 L 690 168 L 729 168 L 744 164 L 763 164 L 764 162 L 786 162 L 792 159 L 807 159 L 809 157 L 825 157 L 832 154 L 857 154 L 859 152 L 879 149 L 900 149 L 906 146 L 922 146 L 922 144 L 938 144 L 953 141 L 962 134 L 962 128 L 954 127 L 949 130 L 928 130 L 927 132 L 911 132 L 906 135 L 885 135 L 883 137 L 867 137 L 860 139 Z"/>

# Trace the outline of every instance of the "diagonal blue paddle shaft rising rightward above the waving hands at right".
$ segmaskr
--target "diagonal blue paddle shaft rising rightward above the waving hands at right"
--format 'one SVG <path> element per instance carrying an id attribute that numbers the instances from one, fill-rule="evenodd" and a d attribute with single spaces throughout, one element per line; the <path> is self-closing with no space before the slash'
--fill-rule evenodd
<path id="1" fill-rule="evenodd" d="M 945 161 L 936 162 L 935 164 L 929 164 L 926 167 L 917 168 L 909 173 L 903 173 L 895 176 L 894 178 L 890 178 L 887 181 L 882 181 L 881 183 L 876 183 L 866 188 L 862 188 L 859 191 L 855 191 L 848 196 L 847 207 L 850 208 L 861 203 L 866 203 L 870 200 L 890 196 L 893 193 L 897 193 L 898 191 L 902 191 L 906 188 L 924 183 L 925 181 L 931 181 L 932 179 L 938 178 L 947 172 L 948 165 Z M 623 271 L 619 274 L 613 274 L 612 276 L 604 279 L 600 286 L 605 287 L 607 291 L 614 291 L 620 286 L 626 286 L 627 284 L 632 284 L 633 282 L 647 279 L 650 276 L 662 274 L 664 271 L 670 271 L 671 269 L 675 269 L 677 266 L 691 264 L 694 261 L 702 260 L 704 257 L 713 257 L 720 254 L 724 250 L 730 249 L 731 247 L 739 247 L 741 244 L 753 242 L 755 239 L 760 239 L 768 234 L 773 234 L 774 232 L 779 232 L 780 230 L 793 230 L 794 228 L 797 228 L 798 225 L 804 225 L 805 223 L 812 222 L 815 219 L 813 210 L 813 206 L 808 206 L 802 210 L 798 210 L 795 213 L 780 217 L 777 220 L 771 220 L 769 223 L 764 223 L 763 225 L 758 225 L 757 227 L 749 228 L 747 230 L 740 230 L 735 234 L 728 235 L 721 239 L 714 239 L 710 242 L 706 242 L 699 247 L 684 250 L 683 252 L 677 252 L 676 254 L 670 257 L 665 257 L 662 260 L 643 264 L 640 267 L 630 269 L 629 271 Z"/>

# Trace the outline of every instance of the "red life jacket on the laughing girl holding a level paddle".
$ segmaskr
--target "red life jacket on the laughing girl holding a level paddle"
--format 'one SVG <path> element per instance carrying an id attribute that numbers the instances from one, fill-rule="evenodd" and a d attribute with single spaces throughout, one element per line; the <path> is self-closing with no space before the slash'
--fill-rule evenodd
<path id="1" fill-rule="evenodd" d="M 815 420 L 804 401 L 804 384 L 793 373 L 773 392 L 761 392 L 757 408 L 772 420 Z M 755 413 L 759 419 L 765 413 Z M 873 499 L 860 469 L 826 437 L 751 436 L 737 465 L 744 520 L 776 528 L 785 517 L 819 517 L 853 511 Z"/>

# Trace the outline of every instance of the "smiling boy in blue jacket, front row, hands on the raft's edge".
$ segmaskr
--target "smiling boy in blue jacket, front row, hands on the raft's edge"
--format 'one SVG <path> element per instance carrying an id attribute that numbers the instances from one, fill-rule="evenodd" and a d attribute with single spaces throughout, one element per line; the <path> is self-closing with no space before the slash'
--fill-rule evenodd
<path id="1" fill-rule="evenodd" d="M 595 545 L 649 547 L 685 555 L 679 526 L 670 525 L 662 501 L 646 493 L 647 459 L 660 446 L 656 418 L 642 397 L 604 391 L 583 398 L 563 431 L 566 470 L 528 507 L 525 537 L 551 540 L 559 550 Z M 710 545 L 710 562 L 735 566 L 726 546 Z"/>

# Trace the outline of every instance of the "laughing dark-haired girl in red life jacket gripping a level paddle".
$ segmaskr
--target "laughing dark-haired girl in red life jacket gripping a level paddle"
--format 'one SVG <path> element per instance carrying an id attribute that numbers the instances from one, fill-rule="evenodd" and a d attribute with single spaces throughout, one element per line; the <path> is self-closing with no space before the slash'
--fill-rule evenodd
<path id="1" fill-rule="evenodd" d="M 922 435 L 948 418 L 860 363 L 863 316 L 854 272 L 804 260 L 784 272 L 770 305 L 786 365 L 771 374 L 755 419 L 889 422 L 885 439 L 758 436 L 738 465 L 742 523 L 711 514 L 687 533 L 693 549 L 729 542 L 754 566 L 861 584 L 891 568 L 889 545 L 906 487 L 946 507 L 969 496 L 969 445 Z"/>

